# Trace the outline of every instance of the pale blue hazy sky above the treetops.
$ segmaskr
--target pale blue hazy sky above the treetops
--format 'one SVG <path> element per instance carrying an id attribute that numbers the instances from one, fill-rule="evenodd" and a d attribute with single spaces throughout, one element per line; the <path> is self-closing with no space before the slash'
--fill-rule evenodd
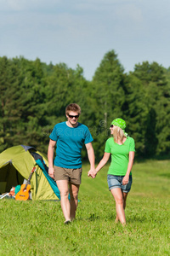
<path id="1" fill-rule="evenodd" d="M 169 0 L 0 0 L 0 56 L 83 69 L 91 80 L 114 49 L 125 72 L 170 67 Z"/>

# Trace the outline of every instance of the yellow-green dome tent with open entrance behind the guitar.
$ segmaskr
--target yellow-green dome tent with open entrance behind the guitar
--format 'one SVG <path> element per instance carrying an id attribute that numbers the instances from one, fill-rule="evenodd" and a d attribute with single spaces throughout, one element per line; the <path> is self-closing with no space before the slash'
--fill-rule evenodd
<path id="1" fill-rule="evenodd" d="M 39 155 L 45 166 L 48 166 L 47 158 L 35 148 L 19 145 L 8 148 L 0 154 L 0 194 L 9 192 L 12 187 L 21 185 L 24 179 L 28 179 L 31 170 L 36 166 L 37 170 L 31 177 L 32 200 L 59 200 L 59 189 L 54 180 L 48 176 L 38 160 L 32 154 Z M 47 167 L 46 166 L 46 167 Z"/>

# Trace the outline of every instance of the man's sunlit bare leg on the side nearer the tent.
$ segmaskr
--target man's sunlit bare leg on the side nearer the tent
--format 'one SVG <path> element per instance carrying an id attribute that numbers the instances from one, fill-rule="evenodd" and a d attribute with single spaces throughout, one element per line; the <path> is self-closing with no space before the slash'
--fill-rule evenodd
<path id="1" fill-rule="evenodd" d="M 68 183 L 69 182 L 67 180 L 58 180 L 56 183 L 60 192 L 60 204 L 65 217 L 65 221 L 71 220 L 71 213 L 70 213 L 71 205 L 68 199 L 68 195 L 69 195 Z"/>

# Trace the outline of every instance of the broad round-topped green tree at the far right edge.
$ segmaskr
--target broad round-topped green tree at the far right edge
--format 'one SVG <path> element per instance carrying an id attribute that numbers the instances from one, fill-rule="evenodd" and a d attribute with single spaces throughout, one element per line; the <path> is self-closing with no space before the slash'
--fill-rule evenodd
<path id="1" fill-rule="evenodd" d="M 131 113 L 129 120 L 133 124 L 139 154 L 144 157 L 167 154 L 169 90 L 163 67 L 156 62 L 150 64 L 145 61 L 135 65 L 134 72 L 130 73 L 128 79 L 131 81 L 127 85 L 130 88 L 127 96 Z M 139 87 L 137 91 L 136 87 Z M 136 113 L 137 111 L 141 114 Z M 137 128 L 138 125 L 141 130 Z"/>

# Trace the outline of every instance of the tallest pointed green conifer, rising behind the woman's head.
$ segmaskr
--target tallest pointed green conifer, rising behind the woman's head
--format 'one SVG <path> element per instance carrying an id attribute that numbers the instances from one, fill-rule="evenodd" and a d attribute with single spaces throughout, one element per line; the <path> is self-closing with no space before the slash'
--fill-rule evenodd
<path id="1" fill-rule="evenodd" d="M 105 54 L 91 83 L 92 105 L 95 108 L 94 142 L 96 155 L 99 158 L 104 153 L 105 140 L 110 136 L 111 120 L 123 117 L 122 106 L 125 102 L 123 71 L 115 51 L 111 50 Z"/>

